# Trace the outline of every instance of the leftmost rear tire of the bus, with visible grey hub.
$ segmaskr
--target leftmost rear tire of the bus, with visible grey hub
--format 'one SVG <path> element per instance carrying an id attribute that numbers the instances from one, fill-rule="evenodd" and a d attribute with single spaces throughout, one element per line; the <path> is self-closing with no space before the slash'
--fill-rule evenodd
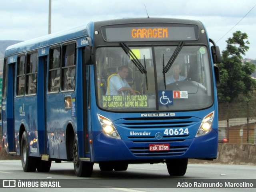
<path id="1" fill-rule="evenodd" d="M 28 136 L 25 131 L 22 134 L 20 146 L 21 164 L 24 172 L 35 172 L 39 158 L 29 156 Z"/>

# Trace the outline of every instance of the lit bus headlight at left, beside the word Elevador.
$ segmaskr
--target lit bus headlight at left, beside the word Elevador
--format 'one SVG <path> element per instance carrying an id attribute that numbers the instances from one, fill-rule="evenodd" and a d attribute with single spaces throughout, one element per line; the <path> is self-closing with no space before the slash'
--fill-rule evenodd
<path id="1" fill-rule="evenodd" d="M 102 132 L 112 138 L 121 139 L 118 134 L 114 124 L 108 118 L 98 114 L 98 120 L 100 121 L 100 125 L 102 126 Z"/>

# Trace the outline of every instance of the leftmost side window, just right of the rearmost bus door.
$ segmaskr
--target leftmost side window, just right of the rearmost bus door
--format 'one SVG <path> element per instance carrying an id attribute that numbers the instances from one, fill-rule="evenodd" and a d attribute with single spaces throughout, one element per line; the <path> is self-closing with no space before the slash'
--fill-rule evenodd
<path id="1" fill-rule="evenodd" d="M 25 55 L 18 56 L 16 95 L 24 96 L 25 93 Z"/>

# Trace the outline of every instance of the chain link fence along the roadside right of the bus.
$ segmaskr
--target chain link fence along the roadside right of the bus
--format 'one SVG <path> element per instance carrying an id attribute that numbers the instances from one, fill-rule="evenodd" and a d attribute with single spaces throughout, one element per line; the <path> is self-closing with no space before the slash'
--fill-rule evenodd
<path id="1" fill-rule="evenodd" d="M 218 121 L 219 137 L 228 143 L 256 143 L 256 100 L 219 103 Z"/>

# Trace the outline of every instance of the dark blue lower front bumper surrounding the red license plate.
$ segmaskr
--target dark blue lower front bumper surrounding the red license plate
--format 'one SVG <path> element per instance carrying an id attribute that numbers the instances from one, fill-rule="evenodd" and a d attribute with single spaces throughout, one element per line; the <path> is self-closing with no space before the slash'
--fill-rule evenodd
<path id="1" fill-rule="evenodd" d="M 182 142 L 160 142 L 169 143 L 168 152 L 149 152 L 148 146 L 153 142 L 134 143 L 125 140 L 113 140 L 100 133 L 94 139 L 94 161 L 150 161 L 170 158 L 216 158 L 218 133 L 209 134 L 187 139 Z"/>

